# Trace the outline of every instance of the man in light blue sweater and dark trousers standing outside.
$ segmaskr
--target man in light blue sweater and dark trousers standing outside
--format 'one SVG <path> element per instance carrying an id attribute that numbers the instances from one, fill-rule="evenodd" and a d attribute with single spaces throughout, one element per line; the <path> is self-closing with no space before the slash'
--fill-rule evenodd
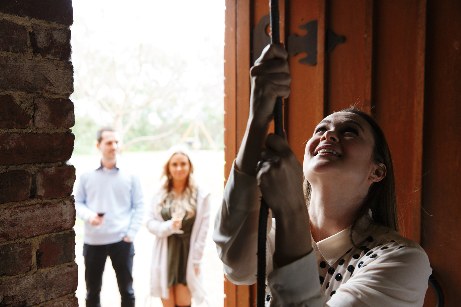
<path id="1" fill-rule="evenodd" d="M 77 216 L 85 221 L 86 306 L 100 307 L 102 273 L 107 256 L 117 276 L 121 307 L 134 307 L 133 239 L 142 222 L 144 200 L 139 177 L 117 161 L 119 135 L 101 128 L 96 138 L 100 166 L 80 177 L 75 193 Z"/>

